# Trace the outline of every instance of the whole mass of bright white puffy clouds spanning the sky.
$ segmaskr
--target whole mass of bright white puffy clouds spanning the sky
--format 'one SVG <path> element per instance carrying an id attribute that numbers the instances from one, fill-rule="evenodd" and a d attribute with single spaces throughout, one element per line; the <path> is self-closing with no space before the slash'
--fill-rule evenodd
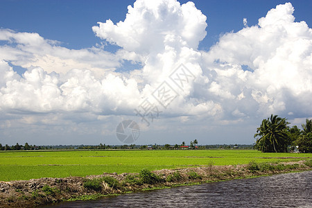
<path id="1" fill-rule="evenodd" d="M 256 26 L 244 19 L 241 31 L 226 33 L 209 51 L 198 50 L 207 18 L 194 3 L 175 0 L 137 0 L 124 21 L 94 26 L 96 36 L 121 46 L 114 54 L 66 49 L 36 33 L 1 29 L 0 111 L 8 118 L 1 126 L 11 125 L 13 116 L 19 123 L 64 121 L 83 129 L 73 123 L 135 116 L 146 99 L 168 118 L 159 129 L 173 120 L 205 128 L 207 121 L 226 125 L 270 113 L 311 116 L 312 30 L 295 22 L 293 10 L 291 3 L 279 5 Z M 142 67 L 117 73 L 123 60 Z M 19 76 L 9 63 L 28 70 Z M 184 71 L 173 71 L 181 63 Z M 154 94 L 164 81 L 177 95 L 166 107 Z"/>

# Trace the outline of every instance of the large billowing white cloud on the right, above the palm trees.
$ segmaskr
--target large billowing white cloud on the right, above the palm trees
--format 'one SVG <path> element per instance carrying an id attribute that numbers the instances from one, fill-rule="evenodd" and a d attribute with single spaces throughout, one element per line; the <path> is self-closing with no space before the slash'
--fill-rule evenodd
<path id="1" fill-rule="evenodd" d="M 293 11 L 291 3 L 279 5 L 257 26 L 220 37 L 203 55 L 217 74 L 218 85 L 211 85 L 211 91 L 236 96 L 234 101 L 243 95 L 261 114 L 311 115 L 312 29 L 304 21 L 295 22 Z"/>

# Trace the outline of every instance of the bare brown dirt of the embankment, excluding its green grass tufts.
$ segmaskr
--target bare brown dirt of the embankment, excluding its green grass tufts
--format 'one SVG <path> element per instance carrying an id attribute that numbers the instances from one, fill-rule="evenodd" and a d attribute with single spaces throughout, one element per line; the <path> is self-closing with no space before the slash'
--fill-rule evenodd
<path id="1" fill-rule="evenodd" d="M 304 165 L 304 161 L 300 162 L 283 162 L 281 164 L 299 164 L 294 169 L 284 171 L 250 171 L 248 165 L 237 166 L 200 166 L 198 168 L 180 168 L 180 169 L 163 169 L 153 171 L 162 179 L 162 182 L 156 184 L 129 184 L 124 182 L 127 175 L 135 175 L 135 173 L 103 173 L 102 175 L 88 175 L 86 177 L 64 177 L 53 178 L 43 177 L 32 180 L 15 180 L 10 182 L 0 182 L 0 207 L 36 207 L 39 205 L 48 205 L 53 202 L 61 202 L 70 198 L 76 198 L 84 195 L 94 194 L 114 194 L 125 193 L 127 191 L 141 191 L 142 189 L 153 189 L 155 187 L 172 187 L 175 185 L 216 182 L 220 180 L 232 180 L 236 178 L 251 177 L 257 175 L 271 175 L 277 173 L 286 173 L 289 171 L 306 171 L 311 167 Z M 167 177 L 173 173 L 179 172 L 181 177 L 179 180 L 171 180 L 168 182 Z M 197 173 L 197 178 L 190 178 L 190 173 Z M 83 183 L 87 179 L 94 179 L 103 176 L 114 177 L 122 184 L 118 188 L 109 187 L 103 182 L 101 191 L 94 191 L 83 187 Z M 48 185 L 53 189 L 52 193 L 43 191 L 42 188 Z"/>

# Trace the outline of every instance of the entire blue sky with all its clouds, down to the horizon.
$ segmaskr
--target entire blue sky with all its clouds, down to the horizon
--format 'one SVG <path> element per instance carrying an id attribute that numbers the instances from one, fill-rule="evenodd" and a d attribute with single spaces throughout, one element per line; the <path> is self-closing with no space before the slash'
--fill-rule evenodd
<path id="1" fill-rule="evenodd" d="M 0 143 L 253 144 L 270 114 L 300 127 L 310 8 L 0 0 Z"/>

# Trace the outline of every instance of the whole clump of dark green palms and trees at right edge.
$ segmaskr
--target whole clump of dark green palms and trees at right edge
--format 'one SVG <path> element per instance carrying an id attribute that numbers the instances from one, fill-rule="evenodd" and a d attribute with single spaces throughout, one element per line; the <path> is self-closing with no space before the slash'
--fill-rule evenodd
<path id="1" fill-rule="evenodd" d="M 263 119 L 254 135 L 257 150 L 263 153 L 286 153 L 298 148 L 300 153 L 312 153 L 312 119 L 306 119 L 302 130 L 290 127 L 286 118 L 272 115 Z"/>

